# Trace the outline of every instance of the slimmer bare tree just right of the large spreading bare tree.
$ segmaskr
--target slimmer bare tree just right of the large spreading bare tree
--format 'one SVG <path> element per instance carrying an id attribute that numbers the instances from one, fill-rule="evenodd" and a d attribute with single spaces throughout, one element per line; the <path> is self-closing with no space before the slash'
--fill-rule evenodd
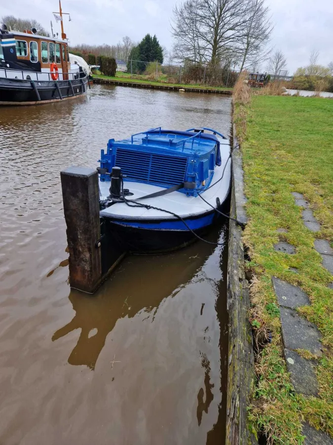
<path id="1" fill-rule="evenodd" d="M 250 0 L 249 17 L 244 24 L 239 48 L 240 71 L 253 65 L 258 66 L 272 51 L 271 48 L 265 49 L 274 28 L 268 14 L 265 0 Z"/>

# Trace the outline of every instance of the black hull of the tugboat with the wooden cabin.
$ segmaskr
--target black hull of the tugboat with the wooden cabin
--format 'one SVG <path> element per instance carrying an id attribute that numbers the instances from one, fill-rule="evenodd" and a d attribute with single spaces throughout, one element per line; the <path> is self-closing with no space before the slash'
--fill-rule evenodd
<path id="1" fill-rule="evenodd" d="M 34 88 L 34 84 L 37 90 Z M 71 81 L 40 82 L 0 78 L 0 105 L 30 105 L 70 99 L 84 94 L 87 90 L 87 84 L 87 76 Z"/>

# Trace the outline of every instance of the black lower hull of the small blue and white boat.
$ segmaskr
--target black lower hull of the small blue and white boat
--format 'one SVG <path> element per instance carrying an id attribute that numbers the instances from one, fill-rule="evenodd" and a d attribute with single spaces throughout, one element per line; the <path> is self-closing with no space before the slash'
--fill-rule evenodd
<path id="1" fill-rule="evenodd" d="M 224 214 L 228 214 L 230 207 L 230 199 L 228 198 L 219 207 L 218 210 Z M 193 230 L 200 237 L 205 236 L 212 229 L 213 225 L 220 222 L 222 215 L 212 211 L 208 214 L 214 214 L 212 224 Z M 187 230 L 161 230 L 131 227 L 114 223 L 109 218 L 103 218 L 105 240 L 104 243 L 107 251 L 112 251 L 113 246 L 123 252 L 134 254 L 160 254 L 172 252 L 181 249 L 188 244 L 197 240 L 192 232 Z M 108 245 L 108 247 L 107 247 Z"/>

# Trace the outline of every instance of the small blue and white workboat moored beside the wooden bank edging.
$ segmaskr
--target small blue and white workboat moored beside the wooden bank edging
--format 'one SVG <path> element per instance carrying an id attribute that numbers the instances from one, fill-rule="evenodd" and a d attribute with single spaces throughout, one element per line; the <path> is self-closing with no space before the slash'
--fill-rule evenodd
<path id="1" fill-rule="evenodd" d="M 177 249 L 221 216 L 231 188 L 230 143 L 208 128 L 155 128 L 102 150 L 103 231 L 137 253 Z"/>

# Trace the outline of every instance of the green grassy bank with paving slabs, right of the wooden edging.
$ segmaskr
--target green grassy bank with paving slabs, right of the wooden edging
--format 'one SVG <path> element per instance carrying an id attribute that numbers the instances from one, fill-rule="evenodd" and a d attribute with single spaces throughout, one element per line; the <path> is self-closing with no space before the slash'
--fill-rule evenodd
<path id="1" fill-rule="evenodd" d="M 249 419 L 269 443 L 302 443 L 301 422 L 333 436 L 333 276 L 321 266 L 315 235 L 301 220 L 292 192 L 304 194 L 321 223 L 317 238 L 333 241 L 333 101 L 323 98 L 253 96 L 239 103 L 234 119 L 242 142 L 249 223 L 244 242 L 252 275 L 250 319 L 260 342 L 256 357 L 258 385 Z M 278 228 L 287 229 L 279 233 Z M 296 246 L 295 255 L 278 253 L 279 240 Z M 290 267 L 296 267 L 298 273 Z M 319 397 L 294 392 L 282 356 L 279 308 L 271 277 L 300 286 L 311 306 L 298 310 L 322 334 L 324 356 L 318 360 Z M 309 357 L 306 352 L 299 351 Z M 314 357 L 313 357 L 314 358 Z"/>

